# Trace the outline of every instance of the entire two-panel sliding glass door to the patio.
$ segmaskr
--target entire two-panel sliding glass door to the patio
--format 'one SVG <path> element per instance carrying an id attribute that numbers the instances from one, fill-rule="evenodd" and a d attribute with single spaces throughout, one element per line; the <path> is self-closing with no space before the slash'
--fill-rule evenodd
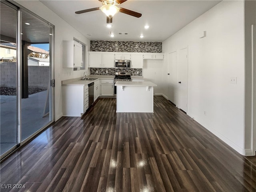
<path id="1" fill-rule="evenodd" d="M 54 26 L 1 2 L 1 159 L 53 122 Z"/>

